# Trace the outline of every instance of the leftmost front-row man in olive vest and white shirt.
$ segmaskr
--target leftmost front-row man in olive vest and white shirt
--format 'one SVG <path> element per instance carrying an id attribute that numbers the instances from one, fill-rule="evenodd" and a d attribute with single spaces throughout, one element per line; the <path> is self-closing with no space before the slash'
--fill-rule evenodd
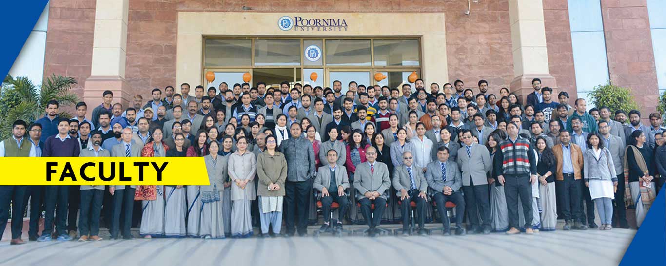
<path id="1" fill-rule="evenodd" d="M 0 157 L 35 157 L 35 146 L 23 138 L 27 124 L 16 120 L 11 126 L 11 138 L 0 142 Z M 25 190 L 27 186 L 0 186 L 0 239 L 2 239 L 11 202 L 11 245 L 25 244 L 23 234 L 23 210 L 25 209 Z"/>

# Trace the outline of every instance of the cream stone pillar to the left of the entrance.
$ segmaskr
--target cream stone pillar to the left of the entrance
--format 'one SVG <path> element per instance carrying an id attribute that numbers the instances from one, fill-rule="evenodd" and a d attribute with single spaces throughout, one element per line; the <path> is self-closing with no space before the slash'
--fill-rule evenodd
<path id="1" fill-rule="evenodd" d="M 113 91 L 113 102 L 124 108 L 132 99 L 125 81 L 128 13 L 129 0 L 97 0 L 91 76 L 83 91 L 89 109 L 101 104 L 105 90 Z"/>

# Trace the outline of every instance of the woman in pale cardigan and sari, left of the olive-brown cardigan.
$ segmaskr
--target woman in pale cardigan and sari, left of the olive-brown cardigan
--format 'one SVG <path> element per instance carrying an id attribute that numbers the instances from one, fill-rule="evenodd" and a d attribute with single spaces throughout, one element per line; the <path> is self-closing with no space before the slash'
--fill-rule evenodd
<path id="1" fill-rule="evenodd" d="M 238 150 L 229 156 L 228 172 L 231 185 L 231 237 L 252 236 L 252 217 L 250 206 L 256 199 L 254 176 L 256 176 L 256 157 L 247 150 L 247 138 L 236 140 Z"/>

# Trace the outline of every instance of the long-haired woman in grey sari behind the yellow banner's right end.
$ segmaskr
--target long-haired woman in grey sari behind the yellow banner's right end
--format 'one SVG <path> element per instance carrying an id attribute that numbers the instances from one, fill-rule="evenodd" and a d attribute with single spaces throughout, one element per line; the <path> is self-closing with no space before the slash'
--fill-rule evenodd
<path id="1" fill-rule="evenodd" d="M 208 136 L 203 130 L 196 132 L 196 141 L 187 148 L 187 157 L 202 157 L 208 155 Z M 201 217 L 201 188 L 200 186 L 187 186 L 187 235 L 200 237 Z"/>

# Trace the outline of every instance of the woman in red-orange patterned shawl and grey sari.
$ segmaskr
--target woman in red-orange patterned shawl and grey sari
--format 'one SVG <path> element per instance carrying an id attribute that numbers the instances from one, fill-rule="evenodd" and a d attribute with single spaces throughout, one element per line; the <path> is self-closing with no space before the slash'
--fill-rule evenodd
<path id="1" fill-rule="evenodd" d="M 168 147 L 162 142 L 162 128 L 154 128 L 151 132 L 151 141 L 143 146 L 141 157 L 165 157 Z M 143 200 L 141 203 L 141 229 L 139 235 L 145 238 L 161 237 L 164 235 L 165 196 L 164 186 L 140 186 L 140 190 L 152 190 L 155 200 Z"/>

